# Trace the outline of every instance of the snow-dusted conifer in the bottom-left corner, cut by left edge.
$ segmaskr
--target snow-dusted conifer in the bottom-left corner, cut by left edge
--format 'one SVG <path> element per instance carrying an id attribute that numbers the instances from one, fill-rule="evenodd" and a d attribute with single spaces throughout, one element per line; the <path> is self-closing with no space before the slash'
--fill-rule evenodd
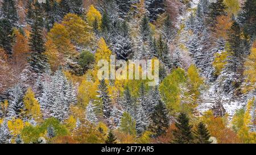
<path id="1" fill-rule="evenodd" d="M 11 143 L 11 133 L 8 128 L 7 119 L 0 124 L 0 144 Z"/>

